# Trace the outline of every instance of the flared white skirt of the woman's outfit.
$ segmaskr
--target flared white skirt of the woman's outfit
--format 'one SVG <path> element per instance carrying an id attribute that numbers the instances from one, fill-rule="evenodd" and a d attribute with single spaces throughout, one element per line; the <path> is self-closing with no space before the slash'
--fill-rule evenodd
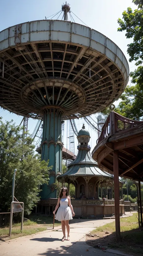
<path id="1" fill-rule="evenodd" d="M 58 221 L 61 220 L 72 220 L 72 211 L 68 206 L 60 206 L 56 215 L 55 219 Z"/>

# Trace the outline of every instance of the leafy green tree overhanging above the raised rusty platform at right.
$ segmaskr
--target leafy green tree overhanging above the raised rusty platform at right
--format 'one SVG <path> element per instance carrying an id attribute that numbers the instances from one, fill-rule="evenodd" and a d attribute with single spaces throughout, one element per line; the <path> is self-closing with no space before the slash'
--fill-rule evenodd
<path id="1" fill-rule="evenodd" d="M 143 0 L 133 0 L 138 9 L 132 11 L 130 7 L 122 13 L 122 19 L 118 19 L 118 31 L 126 31 L 126 38 L 132 38 L 128 44 L 127 52 L 129 62 L 135 61 L 137 69 L 130 73 L 134 86 L 128 86 L 121 96 L 121 102 L 115 109 L 119 114 L 134 120 L 140 120 L 143 116 Z"/>

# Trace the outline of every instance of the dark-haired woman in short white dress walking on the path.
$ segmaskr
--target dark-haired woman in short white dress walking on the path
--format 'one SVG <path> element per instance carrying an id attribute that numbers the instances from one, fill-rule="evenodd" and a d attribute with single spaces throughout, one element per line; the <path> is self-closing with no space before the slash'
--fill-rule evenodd
<path id="1" fill-rule="evenodd" d="M 60 207 L 59 207 L 59 204 L 60 204 Z M 69 207 L 68 207 L 68 205 L 69 205 Z M 58 209 L 58 207 L 59 207 L 59 209 Z M 61 221 L 61 223 L 62 223 L 62 232 L 64 235 L 62 237 L 62 241 L 64 241 L 66 239 L 65 226 L 66 226 L 67 232 L 68 232 L 68 237 L 66 240 L 69 241 L 69 231 L 70 231 L 69 220 L 72 220 L 72 217 L 75 216 L 75 213 L 73 211 L 70 196 L 68 196 L 68 189 L 66 187 L 61 189 L 61 192 L 60 192 L 59 198 L 58 198 L 58 203 L 56 205 L 56 208 L 55 208 L 53 214 L 55 214 L 57 209 L 58 209 L 58 211 L 55 215 L 55 219 Z"/>

